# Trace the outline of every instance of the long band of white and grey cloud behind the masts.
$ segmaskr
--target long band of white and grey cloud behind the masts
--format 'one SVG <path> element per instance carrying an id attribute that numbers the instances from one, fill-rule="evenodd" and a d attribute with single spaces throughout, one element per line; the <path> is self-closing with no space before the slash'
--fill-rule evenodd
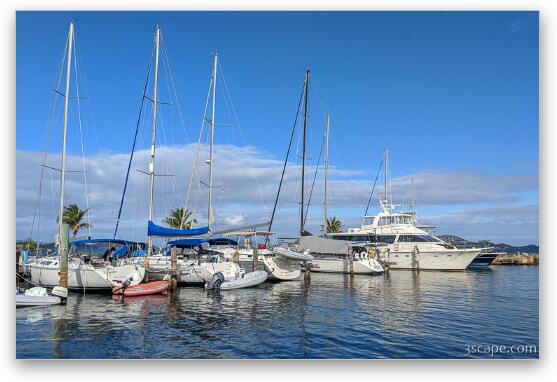
<path id="1" fill-rule="evenodd" d="M 195 212 L 199 224 L 207 221 L 208 166 L 206 149 L 202 148 L 196 174 L 192 182 L 188 208 Z M 196 158 L 196 145 L 162 146 L 157 149 L 154 220 L 161 223 L 170 209 L 184 204 L 191 178 L 192 164 Z M 59 172 L 41 168 L 43 154 L 17 151 L 17 237 L 25 238 L 33 227 L 34 237 L 50 240 L 55 231 L 59 208 Z M 81 208 L 90 207 L 89 218 L 94 236 L 112 236 L 128 166 L 129 154 L 99 152 L 85 158 L 68 157 L 66 203 L 77 203 Z M 46 165 L 59 167 L 60 155 L 50 154 Z M 126 200 L 119 227 L 119 236 L 144 239 L 148 217 L 149 152 L 137 151 L 126 192 Z M 276 197 L 282 172 L 282 160 L 255 147 L 216 145 L 214 149 L 213 210 L 215 229 L 226 229 L 245 224 L 268 221 Z M 85 172 L 82 172 L 85 168 Z M 41 195 L 37 199 L 43 172 Z M 141 172 L 143 171 L 143 172 Z M 307 167 L 306 203 L 309 198 L 315 167 Z M 374 176 L 375 174 L 373 174 Z M 84 180 L 88 189 L 85 192 Z M 323 174 L 319 169 L 311 196 L 312 207 L 308 227 L 318 232 L 322 222 Z M 372 176 L 365 171 L 350 168 L 330 168 L 329 206 L 334 213 L 346 213 L 347 222 L 357 223 L 369 198 Z M 411 179 L 415 181 L 416 199 L 420 206 L 451 206 L 487 204 L 498 206 L 485 210 L 485 219 L 512 224 L 509 214 L 523 192 L 537 190 L 537 177 L 526 175 L 491 175 L 472 171 L 448 172 L 429 170 L 392 179 L 393 198 L 400 201 L 403 194 L 410 198 Z M 275 217 L 274 229 L 280 235 L 294 235 L 299 224 L 300 167 L 289 164 L 282 194 Z M 382 193 L 378 186 L 372 203 L 377 204 Z M 37 200 L 40 203 L 36 203 Z M 511 207 L 507 207 L 507 206 Z M 537 208 L 537 206 L 531 206 Z M 470 210 L 473 211 L 473 210 Z M 351 216 L 351 217 L 350 217 Z M 511 216 L 511 215 L 508 215 Z M 35 217 L 35 218 L 34 218 Z M 340 216 L 343 218 L 343 216 Z M 442 224 L 470 219 L 465 211 L 444 216 L 429 216 Z M 444 219 L 444 220 L 443 220 Z M 33 222 L 34 221 L 34 222 Z M 537 224 L 537 215 L 529 221 Z M 85 232 L 86 233 L 86 232 Z"/>

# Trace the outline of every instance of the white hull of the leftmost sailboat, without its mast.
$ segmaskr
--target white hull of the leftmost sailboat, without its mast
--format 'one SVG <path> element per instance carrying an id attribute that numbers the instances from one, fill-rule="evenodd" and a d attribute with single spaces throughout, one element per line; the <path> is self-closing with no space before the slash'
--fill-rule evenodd
<path id="1" fill-rule="evenodd" d="M 30 264 L 31 281 L 35 285 L 52 288 L 60 282 L 60 266 L 58 259 L 38 260 Z M 83 264 L 71 261 L 68 264 L 68 289 L 112 289 L 115 284 L 132 279 L 131 285 L 137 285 L 143 281 L 145 268 L 128 264 L 113 267 L 93 267 L 91 264 Z"/>

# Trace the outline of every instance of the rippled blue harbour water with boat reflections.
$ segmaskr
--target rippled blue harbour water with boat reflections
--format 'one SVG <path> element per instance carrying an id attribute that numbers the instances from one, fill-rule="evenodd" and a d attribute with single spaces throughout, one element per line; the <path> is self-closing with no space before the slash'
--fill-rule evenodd
<path id="1" fill-rule="evenodd" d="M 18 358 L 491 358 L 481 345 L 535 345 L 538 267 L 313 273 L 303 280 L 207 293 L 16 310 Z M 520 349 L 518 349 L 520 350 Z M 525 352 L 525 350 L 523 350 Z"/>

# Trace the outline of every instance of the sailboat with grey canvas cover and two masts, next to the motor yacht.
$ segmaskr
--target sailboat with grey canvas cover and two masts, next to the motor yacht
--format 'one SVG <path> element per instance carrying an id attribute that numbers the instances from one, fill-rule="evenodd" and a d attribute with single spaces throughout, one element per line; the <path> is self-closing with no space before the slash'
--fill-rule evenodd
<path id="1" fill-rule="evenodd" d="M 307 210 L 305 208 L 305 162 L 306 162 L 306 135 L 307 135 L 307 117 L 309 107 L 309 81 L 310 71 L 305 73 L 305 90 L 304 90 L 304 127 L 302 137 L 302 166 L 301 166 L 301 203 L 300 203 L 300 237 L 293 246 L 294 253 L 309 252 L 313 256 L 313 260 L 309 261 L 312 272 L 326 273 L 359 273 L 359 274 L 381 274 L 383 267 L 377 259 L 368 255 L 365 248 L 353 246 L 350 243 L 338 242 L 326 236 L 327 227 L 327 176 L 329 163 L 329 129 L 330 115 L 327 114 L 327 123 L 325 130 L 326 152 L 325 152 L 325 192 L 324 192 L 324 219 L 323 219 L 323 235 L 311 235 L 305 229 L 305 220 Z M 288 154 L 287 154 L 288 159 Z M 280 186 L 279 186 L 280 192 Z M 276 207 L 276 203 L 275 203 Z M 281 250 L 276 251 L 280 254 Z"/>

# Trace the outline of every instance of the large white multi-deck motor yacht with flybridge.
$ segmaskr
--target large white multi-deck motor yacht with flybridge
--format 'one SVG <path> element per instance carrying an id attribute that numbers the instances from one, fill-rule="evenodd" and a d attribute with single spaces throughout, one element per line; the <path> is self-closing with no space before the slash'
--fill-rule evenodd
<path id="1" fill-rule="evenodd" d="M 388 150 L 385 150 L 385 172 L 388 172 Z M 461 271 L 480 254 L 482 249 L 457 249 L 419 225 L 414 209 L 398 212 L 390 202 L 385 176 L 385 193 L 380 201 L 381 211 L 364 216 L 359 228 L 330 233 L 329 237 L 349 242 L 372 244 L 379 258 L 391 269 Z"/>

